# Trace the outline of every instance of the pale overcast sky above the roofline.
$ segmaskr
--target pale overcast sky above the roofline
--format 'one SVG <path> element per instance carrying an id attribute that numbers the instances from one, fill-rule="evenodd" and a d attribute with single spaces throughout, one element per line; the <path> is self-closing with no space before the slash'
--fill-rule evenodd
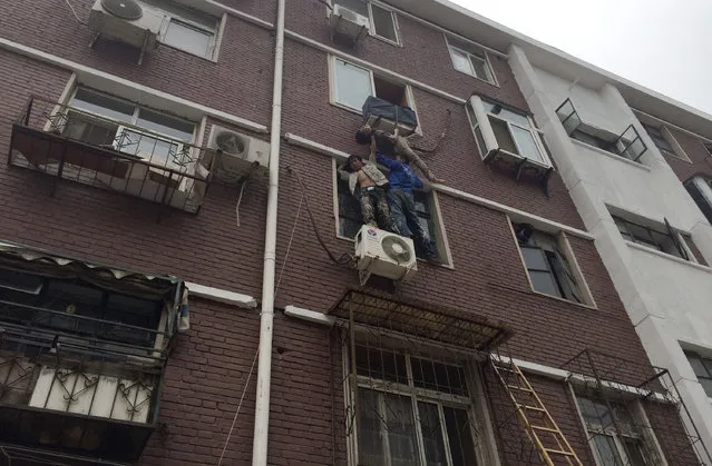
<path id="1" fill-rule="evenodd" d="M 712 113 L 712 0 L 451 0 Z"/>

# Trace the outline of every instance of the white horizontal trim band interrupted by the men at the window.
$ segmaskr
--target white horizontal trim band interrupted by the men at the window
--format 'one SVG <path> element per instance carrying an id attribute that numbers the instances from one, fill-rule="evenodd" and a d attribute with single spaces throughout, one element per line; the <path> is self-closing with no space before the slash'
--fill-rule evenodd
<path id="1" fill-rule="evenodd" d="M 340 160 L 349 158 L 349 153 L 347 153 L 347 152 L 344 152 L 342 150 L 333 149 L 331 147 L 321 145 L 319 142 L 314 142 L 314 141 L 312 141 L 310 139 L 302 138 L 301 136 L 296 136 L 296 135 L 293 135 L 291 132 L 285 133 L 284 135 L 284 139 L 286 139 L 286 141 L 289 143 L 302 147 L 304 149 L 313 150 L 313 151 L 322 153 L 324 156 L 334 157 L 334 158 L 338 158 Z M 432 189 L 436 190 L 436 191 L 446 194 L 446 195 L 450 195 L 450 196 L 456 197 L 458 199 L 467 200 L 469 202 L 477 204 L 479 206 L 487 207 L 487 208 L 492 209 L 492 210 L 497 210 L 497 211 L 500 211 L 500 212 L 508 214 L 508 215 L 513 216 L 513 218 L 516 221 L 528 221 L 534 227 L 540 228 L 544 231 L 552 231 L 552 232 L 565 231 L 565 232 L 567 232 L 569 235 L 573 235 L 573 236 L 576 236 L 578 238 L 588 239 L 588 240 L 594 240 L 595 239 L 595 236 L 593 236 L 589 232 L 586 232 L 584 230 L 579 230 L 578 228 L 569 227 L 567 225 L 559 224 L 557 221 L 553 221 L 553 220 L 546 219 L 544 217 L 539 217 L 539 216 L 534 215 L 534 214 L 528 214 L 528 212 L 525 212 L 524 210 L 519 210 L 519 209 L 516 209 L 514 207 L 505 206 L 504 204 L 499 204 L 499 202 L 496 202 L 494 200 L 485 199 L 482 197 L 475 196 L 475 195 L 471 195 L 469 192 L 461 191 L 459 189 L 450 188 L 449 186 L 432 185 Z"/>

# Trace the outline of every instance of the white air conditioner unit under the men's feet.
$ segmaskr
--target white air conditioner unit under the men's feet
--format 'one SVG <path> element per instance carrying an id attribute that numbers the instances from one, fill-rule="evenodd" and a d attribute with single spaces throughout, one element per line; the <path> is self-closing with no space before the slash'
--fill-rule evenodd
<path id="1" fill-rule="evenodd" d="M 355 236 L 355 256 L 361 285 L 371 275 L 401 281 L 418 270 L 412 239 L 368 225 Z"/>

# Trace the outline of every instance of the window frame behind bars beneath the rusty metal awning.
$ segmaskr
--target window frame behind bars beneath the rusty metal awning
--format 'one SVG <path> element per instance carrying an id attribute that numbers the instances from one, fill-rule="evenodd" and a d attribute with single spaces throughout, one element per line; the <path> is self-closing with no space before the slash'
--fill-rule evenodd
<path id="1" fill-rule="evenodd" d="M 362 331 L 373 331 L 367 329 L 357 329 L 358 333 Z M 345 335 L 344 335 L 345 337 Z M 399 338 L 398 336 L 394 338 Z M 358 337 L 357 337 L 358 339 Z M 467 387 L 467 393 L 469 396 L 461 395 L 452 395 L 446 394 L 441 391 L 437 391 L 433 389 L 417 387 L 413 384 L 412 376 L 412 366 L 411 366 L 411 355 L 407 349 L 398 349 L 398 344 L 393 347 L 398 354 L 401 354 L 406 360 L 406 370 L 408 377 L 408 385 L 403 385 L 400 383 L 393 383 L 388 380 L 381 380 L 371 378 L 369 376 L 357 375 L 357 387 L 353 387 L 353 379 L 351 376 L 343 378 L 343 389 L 344 389 L 344 404 L 345 409 L 349 410 L 353 406 L 353 401 L 358 396 L 358 388 L 365 388 L 372 391 L 379 393 L 388 393 L 393 395 L 402 395 L 410 397 L 412 404 L 412 415 L 413 415 L 413 428 L 416 430 L 416 439 L 417 439 L 417 448 L 419 459 L 425 458 L 425 444 L 422 439 L 422 432 L 418 427 L 418 401 L 425 401 L 435 404 L 438 406 L 438 415 L 441 427 L 442 440 L 446 448 L 446 459 L 448 465 L 451 464 L 451 453 L 449 449 L 449 437 L 447 433 L 446 423 L 442 416 L 442 406 L 443 404 L 447 406 L 451 406 L 456 409 L 462 409 L 467 412 L 468 422 L 470 427 L 470 435 L 472 438 L 472 445 L 476 447 L 476 456 L 478 459 L 478 464 L 482 465 L 492 465 L 499 466 L 499 457 L 497 454 L 497 447 L 494 440 L 494 433 L 491 430 L 490 417 L 488 413 L 487 401 L 484 399 L 485 393 L 482 389 L 482 381 L 479 378 L 479 371 L 476 368 L 475 360 L 470 359 L 467 364 L 453 364 L 452 361 L 445 360 L 442 358 L 433 357 L 432 360 L 436 363 L 442 363 L 448 365 L 459 366 L 465 370 L 465 385 Z M 375 348 L 374 348 L 375 349 Z M 351 374 L 351 361 L 349 360 L 349 350 L 342 351 L 342 368 L 344 374 Z M 381 350 L 386 350 L 390 353 L 390 348 L 381 348 Z M 425 353 L 425 351 L 423 351 Z M 433 354 L 436 351 L 433 350 Z M 381 401 L 382 403 L 382 401 Z M 350 406 L 351 405 L 351 406 Z M 359 439 L 358 439 L 358 426 L 357 419 L 353 419 L 353 428 L 351 433 L 348 435 L 348 463 L 349 465 L 355 466 L 359 465 Z M 479 437 L 478 434 L 479 433 Z M 384 448 L 388 450 L 388 440 L 384 442 Z"/>

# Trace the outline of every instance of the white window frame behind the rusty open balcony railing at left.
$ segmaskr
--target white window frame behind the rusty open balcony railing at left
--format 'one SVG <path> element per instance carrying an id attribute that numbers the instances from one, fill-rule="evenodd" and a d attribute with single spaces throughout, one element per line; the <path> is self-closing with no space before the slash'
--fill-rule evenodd
<path id="1" fill-rule="evenodd" d="M 134 107 L 134 111 L 133 111 L 133 113 L 130 116 L 130 121 L 121 121 L 121 120 L 118 120 L 116 118 L 107 117 L 107 116 L 104 116 L 104 115 L 100 115 L 100 113 L 97 113 L 97 112 L 94 112 L 94 111 L 90 111 L 90 110 L 85 110 L 85 109 L 80 109 L 80 108 L 74 107 L 72 102 L 74 102 L 74 100 L 75 100 L 75 98 L 77 96 L 77 92 L 80 89 L 86 91 L 86 92 L 92 93 L 92 95 L 101 96 L 101 97 L 104 97 L 106 99 L 109 99 L 109 100 L 114 100 L 114 101 L 121 102 L 121 103 L 125 103 L 125 105 L 130 105 L 131 107 Z M 120 151 L 118 138 L 121 137 L 121 136 L 125 137 L 125 132 L 126 131 L 139 132 L 142 135 L 145 135 L 145 136 L 147 136 L 149 138 L 153 138 L 153 139 L 156 139 L 158 141 L 168 142 L 168 143 L 173 143 L 173 145 L 177 146 L 176 153 L 182 153 L 183 155 L 183 160 L 176 162 L 176 161 L 166 159 L 165 168 L 172 168 L 172 169 L 181 170 L 181 169 L 186 169 L 186 167 L 189 166 L 189 162 L 185 162 L 185 157 L 187 155 L 186 153 L 186 146 L 191 146 L 195 141 L 196 133 L 197 133 L 198 127 L 199 127 L 199 125 L 197 122 L 194 122 L 194 121 L 191 121 L 191 120 L 177 117 L 177 116 L 169 115 L 169 113 L 167 113 L 165 111 L 162 111 L 162 110 L 157 110 L 157 109 L 153 109 L 153 108 L 149 108 L 149 107 L 146 107 L 146 106 L 142 106 L 142 105 L 133 102 L 133 101 L 130 101 L 128 99 L 123 99 L 120 97 L 113 96 L 113 95 L 109 95 L 107 92 L 103 92 L 100 90 L 92 89 L 92 88 L 89 88 L 87 86 L 80 86 L 80 85 L 75 86 L 74 89 L 71 90 L 71 92 L 69 92 L 69 95 L 67 97 L 67 100 L 65 102 L 65 106 L 66 106 L 66 109 L 64 111 L 60 110 L 60 112 L 65 113 L 65 117 L 69 112 L 75 112 L 75 113 L 78 113 L 80 116 L 87 117 L 87 119 L 96 119 L 96 120 L 98 120 L 99 123 L 114 123 L 114 125 L 116 125 L 117 129 L 116 129 L 116 132 L 115 132 L 114 141 L 111 143 L 111 146 L 114 147 L 115 150 Z M 140 125 L 138 125 L 138 118 L 139 118 L 142 109 L 159 113 L 159 115 L 165 116 L 165 117 L 167 117 L 169 119 L 182 120 L 182 121 L 184 121 L 186 123 L 193 125 L 193 133 L 191 136 L 191 139 L 189 140 L 182 140 L 182 139 L 177 139 L 175 136 L 169 136 L 169 135 L 163 133 L 160 131 L 156 131 L 156 130 L 153 130 L 153 129 L 147 129 L 147 128 L 140 127 Z M 130 126 L 127 126 L 127 125 L 130 125 Z M 140 131 L 137 130 L 137 129 L 140 129 Z M 130 155 L 130 152 L 126 152 L 126 153 Z M 142 160 L 148 161 L 149 163 L 153 163 L 153 161 L 150 159 L 145 159 L 145 158 L 140 157 L 140 156 L 136 156 L 136 157 L 140 158 Z M 155 167 L 155 168 L 157 168 L 157 167 Z"/>

